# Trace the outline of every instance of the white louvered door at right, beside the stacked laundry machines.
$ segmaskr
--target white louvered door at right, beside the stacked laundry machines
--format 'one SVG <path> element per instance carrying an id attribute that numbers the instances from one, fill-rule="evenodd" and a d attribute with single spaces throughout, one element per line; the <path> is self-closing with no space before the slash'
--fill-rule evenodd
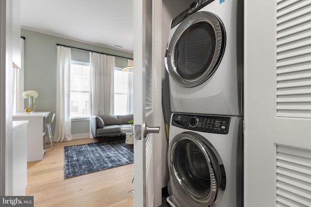
<path id="1" fill-rule="evenodd" d="M 244 206 L 311 206 L 311 0 L 244 0 Z"/>

